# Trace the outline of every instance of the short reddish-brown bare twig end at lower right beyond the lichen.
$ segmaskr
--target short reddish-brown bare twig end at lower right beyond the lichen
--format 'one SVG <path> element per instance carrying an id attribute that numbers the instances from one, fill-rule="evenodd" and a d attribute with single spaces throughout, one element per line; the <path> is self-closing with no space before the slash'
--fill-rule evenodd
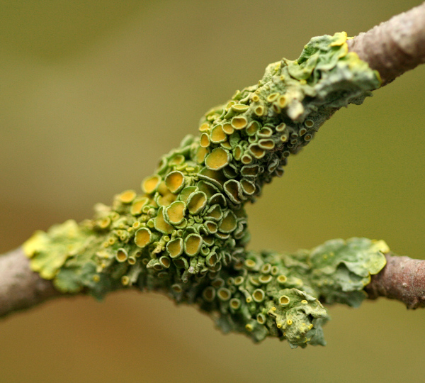
<path id="1" fill-rule="evenodd" d="M 425 260 L 390 254 L 385 257 L 387 265 L 365 287 L 369 299 L 385 296 L 403 302 L 407 309 L 425 307 Z"/>

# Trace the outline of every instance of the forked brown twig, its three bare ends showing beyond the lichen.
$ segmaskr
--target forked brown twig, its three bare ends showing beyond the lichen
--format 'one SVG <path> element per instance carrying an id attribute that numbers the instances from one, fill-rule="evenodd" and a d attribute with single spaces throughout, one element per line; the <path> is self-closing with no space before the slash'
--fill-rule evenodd
<path id="1" fill-rule="evenodd" d="M 382 85 L 425 62 L 425 3 L 348 41 L 370 67 L 378 70 Z M 366 287 L 370 299 L 386 296 L 409 308 L 425 306 L 425 261 L 387 255 L 387 266 Z M 52 282 L 30 270 L 18 248 L 0 256 L 0 317 L 64 295 Z"/>

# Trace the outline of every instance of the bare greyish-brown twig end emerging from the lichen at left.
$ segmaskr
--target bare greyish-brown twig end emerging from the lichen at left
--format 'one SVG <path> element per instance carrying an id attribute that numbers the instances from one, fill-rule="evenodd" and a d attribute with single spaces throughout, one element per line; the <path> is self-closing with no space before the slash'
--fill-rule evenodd
<path id="1" fill-rule="evenodd" d="M 22 248 L 0 256 L 0 318 L 58 295 L 52 282 L 30 270 Z"/>

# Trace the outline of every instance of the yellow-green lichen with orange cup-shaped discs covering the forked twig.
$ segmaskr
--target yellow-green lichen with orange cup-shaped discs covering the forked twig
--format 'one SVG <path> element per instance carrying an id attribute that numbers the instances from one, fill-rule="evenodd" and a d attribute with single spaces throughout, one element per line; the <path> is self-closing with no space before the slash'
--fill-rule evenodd
<path id="1" fill-rule="evenodd" d="M 249 252 L 244 205 L 334 111 L 380 87 L 346 39 L 313 38 L 298 60 L 268 65 L 258 84 L 201 118 L 200 137 L 161 158 L 143 194 L 124 191 L 92 219 L 35 233 L 24 245 L 33 270 L 64 293 L 159 290 L 215 313 L 225 332 L 324 344 L 322 304 L 358 306 L 387 246 L 353 238 L 295 254 Z"/>

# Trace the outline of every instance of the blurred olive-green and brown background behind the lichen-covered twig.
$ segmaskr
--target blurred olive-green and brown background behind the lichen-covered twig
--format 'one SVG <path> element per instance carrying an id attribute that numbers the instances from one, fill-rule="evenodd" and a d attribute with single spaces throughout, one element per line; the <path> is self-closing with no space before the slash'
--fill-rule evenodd
<path id="1" fill-rule="evenodd" d="M 269 62 L 420 1 L 1 1 L 0 252 L 139 189 L 160 155 Z M 424 258 L 425 66 L 336 113 L 249 206 L 251 248 L 384 239 Z M 195 308 L 122 292 L 0 321 L 1 382 L 419 382 L 425 311 L 332 307 L 328 345 L 221 335 Z"/>

